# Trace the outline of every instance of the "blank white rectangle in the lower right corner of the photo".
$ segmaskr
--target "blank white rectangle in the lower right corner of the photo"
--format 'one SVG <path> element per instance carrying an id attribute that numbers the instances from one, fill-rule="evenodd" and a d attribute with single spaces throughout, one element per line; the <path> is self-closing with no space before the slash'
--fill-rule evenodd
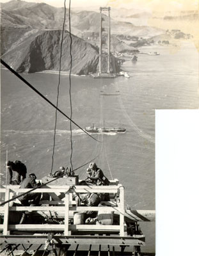
<path id="1" fill-rule="evenodd" d="M 199 255 L 199 110 L 155 111 L 156 255 Z"/>

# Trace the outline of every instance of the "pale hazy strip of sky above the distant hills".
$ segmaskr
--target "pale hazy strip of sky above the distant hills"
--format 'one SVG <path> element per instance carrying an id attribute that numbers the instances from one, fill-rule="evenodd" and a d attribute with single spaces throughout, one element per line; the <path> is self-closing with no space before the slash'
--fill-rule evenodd
<path id="1" fill-rule="evenodd" d="M 9 2 L 0 0 L 1 3 Z M 47 3 L 62 7 L 64 0 L 26 0 L 33 3 Z M 66 1 L 68 6 L 68 0 Z M 112 6 L 115 8 L 138 8 L 151 11 L 198 10 L 198 0 L 71 0 L 71 7 Z"/>

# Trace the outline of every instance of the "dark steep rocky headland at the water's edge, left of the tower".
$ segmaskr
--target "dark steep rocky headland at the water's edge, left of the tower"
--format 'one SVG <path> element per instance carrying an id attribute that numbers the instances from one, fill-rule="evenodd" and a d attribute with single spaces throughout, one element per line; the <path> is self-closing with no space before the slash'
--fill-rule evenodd
<path id="1" fill-rule="evenodd" d="M 59 70 L 61 30 L 43 31 L 33 40 L 22 40 L 11 51 L 3 55 L 3 60 L 17 72 L 38 72 Z M 70 35 L 65 32 L 61 70 L 70 70 Z M 96 72 L 98 52 L 91 44 L 72 35 L 72 74 Z"/>

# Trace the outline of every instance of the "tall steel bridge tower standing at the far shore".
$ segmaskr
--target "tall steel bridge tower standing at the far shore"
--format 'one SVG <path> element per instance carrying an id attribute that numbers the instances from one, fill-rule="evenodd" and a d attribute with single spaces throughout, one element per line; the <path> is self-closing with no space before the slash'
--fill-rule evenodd
<path id="1" fill-rule="evenodd" d="M 100 31 L 99 31 L 99 74 L 102 73 L 102 33 L 106 31 L 107 28 L 107 74 L 110 74 L 110 49 L 111 49 L 111 17 L 110 17 L 111 7 L 100 7 Z M 108 24 L 107 26 L 103 26 L 102 21 L 104 17 L 102 17 L 102 12 L 108 12 Z"/>

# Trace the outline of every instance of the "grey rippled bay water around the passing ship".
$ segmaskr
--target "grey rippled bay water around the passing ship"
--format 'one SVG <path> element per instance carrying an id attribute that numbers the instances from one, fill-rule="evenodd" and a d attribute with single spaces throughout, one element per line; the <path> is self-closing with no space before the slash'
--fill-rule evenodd
<path id="1" fill-rule="evenodd" d="M 83 128 L 125 127 L 122 134 L 92 134 L 90 138 L 72 124 L 72 164 L 74 168 L 95 161 L 108 179 L 118 179 L 125 187 L 125 205 L 131 209 L 155 209 L 155 109 L 195 109 L 199 107 L 198 51 L 184 42 L 176 52 L 153 45 L 127 59 L 123 69 L 130 75 L 115 79 L 72 76 L 72 120 Z M 36 73 L 22 76 L 56 104 L 58 74 Z M 115 93 L 118 95 L 101 95 Z M 58 107 L 70 116 L 69 79 L 61 74 Z M 55 109 L 22 81 L 1 69 L 1 184 L 5 182 L 8 159 L 21 160 L 37 179 L 51 172 Z M 70 120 L 58 113 L 52 172 L 70 166 Z M 166 159 L 165 159 L 166 161 Z M 86 177 L 88 165 L 76 173 Z M 158 195 L 156 195 L 158 196 Z M 141 224 L 146 236 L 143 251 L 155 252 L 155 223 Z"/>

